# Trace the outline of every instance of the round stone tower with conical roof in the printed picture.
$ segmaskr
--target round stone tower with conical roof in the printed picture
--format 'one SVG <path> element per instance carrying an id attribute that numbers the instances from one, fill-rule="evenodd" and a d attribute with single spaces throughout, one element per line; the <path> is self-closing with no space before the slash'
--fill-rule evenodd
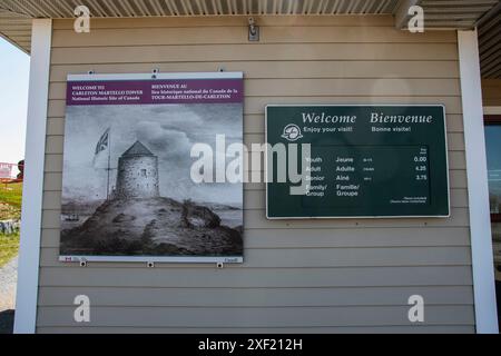
<path id="1" fill-rule="evenodd" d="M 117 190 L 118 198 L 157 198 L 158 157 L 139 141 L 132 145 L 118 159 Z"/>

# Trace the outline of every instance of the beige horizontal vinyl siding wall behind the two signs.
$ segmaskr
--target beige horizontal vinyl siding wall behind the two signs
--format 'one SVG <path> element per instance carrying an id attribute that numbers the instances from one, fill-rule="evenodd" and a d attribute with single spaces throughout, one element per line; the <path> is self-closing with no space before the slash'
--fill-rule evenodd
<path id="1" fill-rule="evenodd" d="M 456 34 L 397 31 L 391 17 L 55 21 L 37 330 L 474 332 Z M 58 263 L 68 73 L 245 72 L 245 141 L 264 141 L 267 103 L 444 103 L 449 219 L 268 221 L 264 185 L 245 186 L 245 264 Z M 255 168 L 256 169 L 256 168 Z M 259 168 L 257 168 L 259 169 Z M 85 178 L 82 178 L 85 179 Z M 88 295 L 91 323 L 73 322 Z M 422 295 L 425 323 L 407 319 Z"/>

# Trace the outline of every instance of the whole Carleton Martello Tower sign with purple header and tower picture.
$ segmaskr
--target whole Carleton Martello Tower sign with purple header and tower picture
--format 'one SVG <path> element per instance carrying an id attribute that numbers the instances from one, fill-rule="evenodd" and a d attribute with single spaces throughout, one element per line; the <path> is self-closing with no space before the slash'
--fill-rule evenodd
<path id="1" fill-rule="evenodd" d="M 61 261 L 243 261 L 243 184 L 193 148 L 243 144 L 242 72 L 69 76 Z"/>

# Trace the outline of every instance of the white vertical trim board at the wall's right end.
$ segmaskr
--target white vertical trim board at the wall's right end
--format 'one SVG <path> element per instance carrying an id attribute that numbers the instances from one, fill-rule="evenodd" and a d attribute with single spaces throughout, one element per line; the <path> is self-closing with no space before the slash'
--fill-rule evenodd
<path id="1" fill-rule="evenodd" d="M 458 31 L 477 333 L 498 333 L 485 137 L 475 31 Z"/>

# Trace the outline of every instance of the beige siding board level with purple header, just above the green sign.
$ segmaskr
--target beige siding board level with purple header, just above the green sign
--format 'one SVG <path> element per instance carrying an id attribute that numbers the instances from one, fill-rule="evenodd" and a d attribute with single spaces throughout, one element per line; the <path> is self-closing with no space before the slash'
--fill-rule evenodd
<path id="1" fill-rule="evenodd" d="M 66 83 L 51 83 L 49 99 L 66 100 Z M 253 96 L 459 96 L 458 79 L 247 79 Z"/>

